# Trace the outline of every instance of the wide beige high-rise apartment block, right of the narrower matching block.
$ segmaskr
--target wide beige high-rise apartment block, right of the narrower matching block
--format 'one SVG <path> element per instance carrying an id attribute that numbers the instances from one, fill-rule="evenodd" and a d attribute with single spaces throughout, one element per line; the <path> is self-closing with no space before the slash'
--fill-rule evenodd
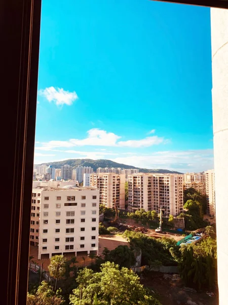
<path id="1" fill-rule="evenodd" d="M 183 175 L 138 173 L 128 175 L 128 210 L 162 209 L 164 215 L 183 211 Z"/>

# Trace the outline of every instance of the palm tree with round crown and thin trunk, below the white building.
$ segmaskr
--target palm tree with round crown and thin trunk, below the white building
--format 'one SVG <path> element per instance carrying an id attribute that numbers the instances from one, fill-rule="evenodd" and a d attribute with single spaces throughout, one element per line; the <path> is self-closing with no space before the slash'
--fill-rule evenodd
<path id="1" fill-rule="evenodd" d="M 50 276 L 56 279 L 55 291 L 57 287 L 57 280 L 61 278 L 66 271 L 66 258 L 63 255 L 55 255 L 51 258 L 50 265 L 48 266 L 48 271 Z"/>

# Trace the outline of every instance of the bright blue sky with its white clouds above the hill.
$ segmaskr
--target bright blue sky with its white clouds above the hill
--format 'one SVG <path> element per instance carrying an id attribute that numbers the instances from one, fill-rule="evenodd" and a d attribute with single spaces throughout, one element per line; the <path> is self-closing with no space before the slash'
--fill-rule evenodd
<path id="1" fill-rule="evenodd" d="M 210 9 L 43 0 L 34 162 L 213 168 Z"/>

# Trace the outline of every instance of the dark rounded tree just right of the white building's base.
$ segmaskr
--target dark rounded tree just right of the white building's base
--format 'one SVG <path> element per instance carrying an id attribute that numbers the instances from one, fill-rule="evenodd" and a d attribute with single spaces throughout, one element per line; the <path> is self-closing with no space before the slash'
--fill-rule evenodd
<path id="1" fill-rule="evenodd" d="M 107 261 L 114 262 L 120 267 L 130 268 L 136 262 L 133 251 L 128 246 L 118 246 L 116 249 L 111 250 L 106 257 Z"/>

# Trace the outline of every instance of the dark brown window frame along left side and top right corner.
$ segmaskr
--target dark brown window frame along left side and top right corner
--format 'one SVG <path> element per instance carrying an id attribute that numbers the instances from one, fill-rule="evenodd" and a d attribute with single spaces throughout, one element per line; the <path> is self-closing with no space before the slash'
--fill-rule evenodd
<path id="1" fill-rule="evenodd" d="M 9 2 L 9 0 L 2 0 L 2 2 L 1 13 L 3 12 L 5 16 L 1 20 L 3 43 L 7 41 L 4 43 L 6 47 L 2 49 L 2 57 L 5 58 L 3 63 L 5 73 L 3 87 L 5 90 L 2 99 L 7 100 L 8 93 L 11 92 L 13 102 L 4 105 L 4 111 L 11 113 L 9 124 L 12 125 L 8 133 L 3 134 L 2 139 L 10 147 L 7 151 L 2 152 L 2 159 L 6 160 L 10 173 L 8 175 L 8 191 L 3 195 L 2 200 L 10 202 L 10 204 L 3 206 L 4 221 L 1 223 L 2 231 L 6 233 L 3 236 L 3 243 L 7 246 L 6 251 L 2 254 L 2 260 L 5 262 L 2 265 L 5 281 L 2 284 L 1 299 L 4 304 L 18 305 L 26 304 L 27 295 L 31 176 L 33 172 L 42 1 L 11 0 Z M 179 0 L 175 3 L 228 8 L 228 2 L 225 0 L 219 2 Z M 13 6 L 16 8 L 15 10 L 12 10 Z M 12 56 L 12 50 L 18 56 Z M 11 90 L 12 86 L 14 90 Z M 4 122 L 2 123 L 4 129 L 3 124 Z M 14 224 L 12 219 L 15 220 Z M 47 249 L 42 250 L 47 251 Z"/>

